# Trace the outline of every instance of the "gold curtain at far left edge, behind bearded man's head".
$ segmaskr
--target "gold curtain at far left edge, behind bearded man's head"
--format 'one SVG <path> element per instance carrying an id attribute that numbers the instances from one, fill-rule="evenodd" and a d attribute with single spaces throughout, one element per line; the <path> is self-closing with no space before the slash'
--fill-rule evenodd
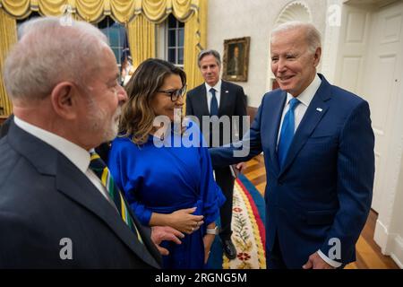
<path id="1" fill-rule="evenodd" d="M 15 19 L 0 9 L 0 116 L 9 116 L 13 111 L 3 83 L 4 60 L 10 48 L 17 41 L 17 24 Z"/>

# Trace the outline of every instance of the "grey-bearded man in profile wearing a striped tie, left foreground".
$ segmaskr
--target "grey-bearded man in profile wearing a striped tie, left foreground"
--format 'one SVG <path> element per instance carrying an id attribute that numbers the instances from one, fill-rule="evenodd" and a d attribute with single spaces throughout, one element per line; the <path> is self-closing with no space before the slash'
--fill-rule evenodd
<path id="1" fill-rule="evenodd" d="M 20 35 L 4 68 L 14 117 L 0 141 L 0 268 L 159 268 L 155 244 L 181 234 L 144 229 L 93 153 L 127 99 L 107 39 L 53 17 Z"/>

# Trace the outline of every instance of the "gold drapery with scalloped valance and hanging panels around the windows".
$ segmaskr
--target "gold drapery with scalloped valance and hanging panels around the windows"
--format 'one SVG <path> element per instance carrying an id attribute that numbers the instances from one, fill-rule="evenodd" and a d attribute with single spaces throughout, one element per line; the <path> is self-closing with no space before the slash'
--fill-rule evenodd
<path id="1" fill-rule="evenodd" d="M 65 13 L 66 7 L 69 7 L 74 19 L 100 22 L 105 16 L 110 16 L 124 24 L 133 60 L 137 65 L 146 58 L 155 57 L 155 24 L 165 21 L 173 13 L 178 21 L 185 23 L 184 71 L 188 75 L 188 86 L 191 89 L 202 82 L 197 67 L 197 54 L 201 48 L 206 47 L 207 0 L 0 0 L 0 10 L 15 19 L 26 18 L 32 11 L 47 16 L 60 16 Z M 8 25 L 0 22 L 0 30 L 15 30 Z M 4 35 L 3 32 L 0 34 L 2 48 L 9 41 L 4 39 Z M 10 45 L 6 46 L 4 51 L 9 48 Z M 0 55 L 0 63 L 4 60 L 3 54 Z M 7 103 L 0 104 L 5 111 L 8 100 L 0 87 L 0 99 L 3 98 Z M 8 115 L 10 111 L 4 113 Z"/>

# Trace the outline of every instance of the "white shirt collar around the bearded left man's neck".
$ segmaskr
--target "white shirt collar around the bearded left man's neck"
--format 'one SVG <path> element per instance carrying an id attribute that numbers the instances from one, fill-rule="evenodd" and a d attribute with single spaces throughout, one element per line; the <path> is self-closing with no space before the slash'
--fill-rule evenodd
<path id="1" fill-rule="evenodd" d="M 16 116 L 14 116 L 14 123 L 25 132 L 38 137 L 39 140 L 49 144 L 58 152 L 63 153 L 64 156 L 72 161 L 83 173 L 88 170 L 90 166 L 90 153 L 77 144 L 67 141 L 65 138 L 52 134 L 38 126 L 33 126 Z"/>

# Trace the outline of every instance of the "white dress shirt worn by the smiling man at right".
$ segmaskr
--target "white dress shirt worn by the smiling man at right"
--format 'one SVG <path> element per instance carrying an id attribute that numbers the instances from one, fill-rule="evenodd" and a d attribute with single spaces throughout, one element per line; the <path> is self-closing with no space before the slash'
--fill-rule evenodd
<path id="1" fill-rule="evenodd" d="M 302 118 L 304 117 L 304 114 L 306 112 L 306 109 L 308 109 L 309 104 L 311 103 L 313 96 L 315 95 L 316 91 L 318 91 L 319 86 L 321 85 L 322 81 L 321 78 L 316 74 L 316 76 L 313 79 L 313 82 L 303 91 L 299 96 L 296 97 L 297 100 L 300 101 L 300 103 L 296 106 L 296 109 L 294 110 L 294 117 L 295 117 L 295 132 L 296 129 L 298 128 L 299 124 L 301 123 Z M 286 100 L 286 105 L 283 109 L 283 114 L 281 116 L 281 123 L 279 126 L 279 135 L 281 131 L 281 126 L 283 125 L 283 120 L 284 116 L 286 115 L 288 109 L 289 109 L 289 101 L 293 99 L 293 96 L 290 93 L 287 93 L 287 100 Z M 279 135 L 277 136 L 277 145 L 279 147 Z M 325 256 L 321 250 L 318 250 L 318 254 L 322 259 L 329 265 L 333 267 L 339 267 L 341 263 L 330 259 L 329 257 Z M 308 258 L 306 258 L 308 260 Z"/>

